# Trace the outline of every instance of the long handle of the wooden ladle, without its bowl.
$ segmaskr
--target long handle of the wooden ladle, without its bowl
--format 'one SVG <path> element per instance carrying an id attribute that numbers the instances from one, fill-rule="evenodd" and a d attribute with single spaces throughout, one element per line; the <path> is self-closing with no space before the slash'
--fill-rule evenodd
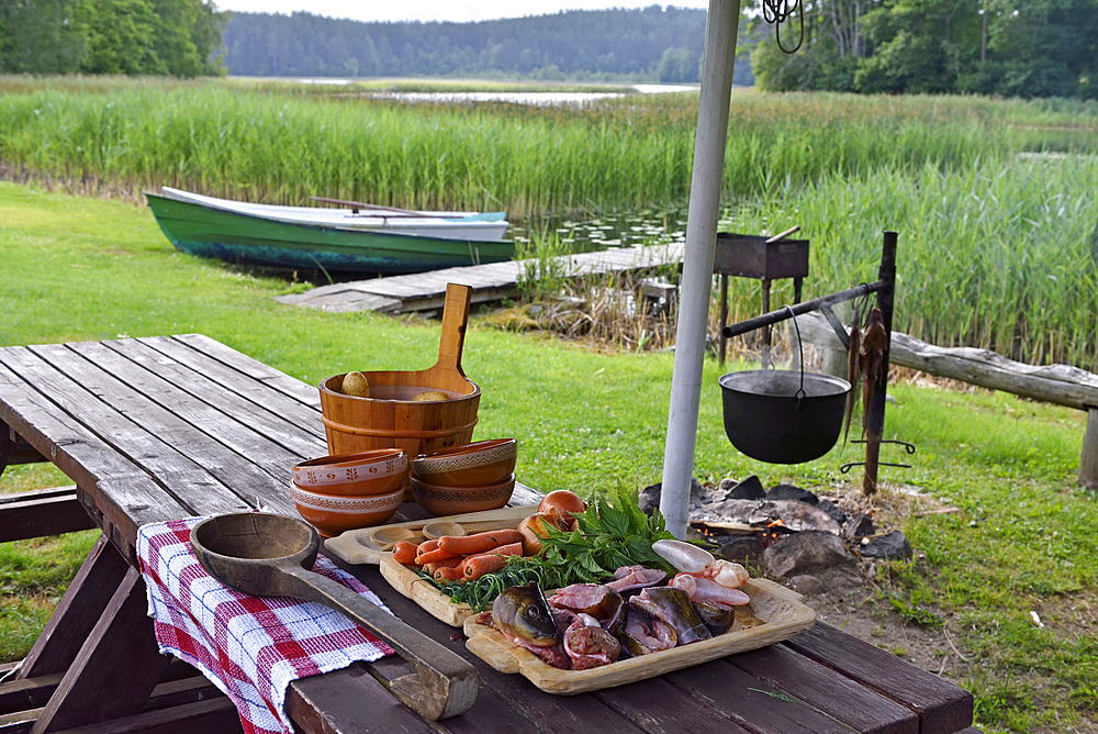
<path id="1" fill-rule="evenodd" d="M 287 570 L 285 594 L 338 610 L 396 650 L 416 672 L 393 681 L 393 696 L 432 721 L 456 716 L 477 702 L 480 677 L 467 660 L 347 587 L 301 567 Z"/>

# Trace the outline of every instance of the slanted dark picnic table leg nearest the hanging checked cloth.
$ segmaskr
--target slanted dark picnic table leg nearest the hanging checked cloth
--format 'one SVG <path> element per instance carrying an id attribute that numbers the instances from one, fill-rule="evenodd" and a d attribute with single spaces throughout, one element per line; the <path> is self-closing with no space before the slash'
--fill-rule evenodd
<path id="1" fill-rule="evenodd" d="M 170 656 L 160 655 L 145 581 L 130 567 L 31 734 L 138 713 Z"/>

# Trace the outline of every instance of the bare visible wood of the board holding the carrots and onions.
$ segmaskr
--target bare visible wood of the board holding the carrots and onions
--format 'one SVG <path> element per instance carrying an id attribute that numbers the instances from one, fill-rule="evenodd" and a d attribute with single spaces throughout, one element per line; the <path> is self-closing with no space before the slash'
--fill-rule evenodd
<path id="1" fill-rule="evenodd" d="M 408 530 L 418 532 L 423 530 L 424 525 L 429 523 L 456 522 L 469 535 L 489 530 L 518 527 L 518 523 L 535 512 L 537 512 L 537 508 L 534 505 L 503 508 L 485 512 L 471 512 L 463 515 L 393 523 L 392 525 L 384 525 L 384 527 L 407 527 Z M 370 542 L 370 535 L 376 530 L 376 527 L 363 527 L 361 530 L 348 531 L 338 537 L 328 538 L 324 544 L 324 548 L 349 564 L 379 564 L 381 576 L 396 591 L 419 604 L 434 618 L 452 627 L 460 627 L 466 619 L 473 614 L 472 608 L 469 604 L 456 604 L 451 602 L 450 598 L 441 593 L 433 583 L 421 578 L 414 568 L 396 563 L 393 560 L 392 553 L 382 552 L 373 546 Z M 416 543 L 423 540 L 423 536 L 418 536 L 418 541 L 414 540 L 413 542 Z"/>

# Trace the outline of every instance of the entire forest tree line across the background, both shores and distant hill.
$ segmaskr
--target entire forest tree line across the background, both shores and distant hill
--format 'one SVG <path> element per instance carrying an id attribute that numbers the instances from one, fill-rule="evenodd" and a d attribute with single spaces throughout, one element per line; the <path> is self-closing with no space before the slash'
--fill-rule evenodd
<path id="1" fill-rule="evenodd" d="M 758 2 L 743 7 L 737 84 L 1098 97 L 1098 0 L 803 0 L 803 14 L 781 26 L 795 54 L 775 43 Z M 229 14 L 213 0 L 0 0 L 0 73 L 696 82 L 705 19 L 704 10 L 653 4 L 368 23 Z"/>

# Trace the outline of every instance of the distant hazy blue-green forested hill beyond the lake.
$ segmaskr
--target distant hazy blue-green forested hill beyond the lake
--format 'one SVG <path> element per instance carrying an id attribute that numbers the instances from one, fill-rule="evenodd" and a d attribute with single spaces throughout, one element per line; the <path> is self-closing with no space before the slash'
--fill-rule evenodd
<path id="1" fill-rule="evenodd" d="M 704 10 L 562 11 L 475 23 L 363 23 L 235 13 L 228 73 L 247 76 L 524 76 L 698 80 Z"/>

